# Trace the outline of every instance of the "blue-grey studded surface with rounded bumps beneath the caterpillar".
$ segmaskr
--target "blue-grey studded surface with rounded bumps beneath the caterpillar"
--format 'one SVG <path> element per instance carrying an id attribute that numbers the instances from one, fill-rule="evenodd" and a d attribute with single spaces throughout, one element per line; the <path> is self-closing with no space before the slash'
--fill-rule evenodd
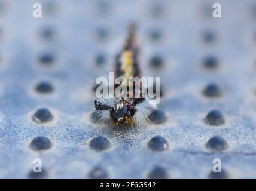
<path id="1" fill-rule="evenodd" d="M 0 178 L 256 178 L 256 2 L 214 3 L 0 0 Z M 98 125 L 88 92 L 131 21 L 157 120 Z"/>

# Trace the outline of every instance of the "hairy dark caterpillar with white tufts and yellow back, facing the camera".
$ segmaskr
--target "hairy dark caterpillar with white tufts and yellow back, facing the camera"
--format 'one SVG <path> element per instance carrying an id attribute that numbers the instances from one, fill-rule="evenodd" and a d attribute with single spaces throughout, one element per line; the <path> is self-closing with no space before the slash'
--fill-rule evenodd
<path id="1" fill-rule="evenodd" d="M 141 70 L 138 63 L 139 43 L 136 39 L 136 26 L 130 24 L 129 33 L 123 50 L 115 60 L 115 78 L 126 78 L 126 84 L 122 84 L 126 90 L 131 86 L 136 87 L 135 82 L 130 82 L 129 77 L 140 77 Z M 117 88 L 115 85 L 114 88 Z M 150 121 L 149 116 L 153 112 L 150 98 L 144 97 L 142 89 L 120 92 L 114 98 L 103 97 L 95 100 L 95 119 L 100 124 L 141 126 Z M 138 93 L 138 97 L 130 97 L 129 94 Z M 128 92 L 128 93 L 127 93 Z"/>

